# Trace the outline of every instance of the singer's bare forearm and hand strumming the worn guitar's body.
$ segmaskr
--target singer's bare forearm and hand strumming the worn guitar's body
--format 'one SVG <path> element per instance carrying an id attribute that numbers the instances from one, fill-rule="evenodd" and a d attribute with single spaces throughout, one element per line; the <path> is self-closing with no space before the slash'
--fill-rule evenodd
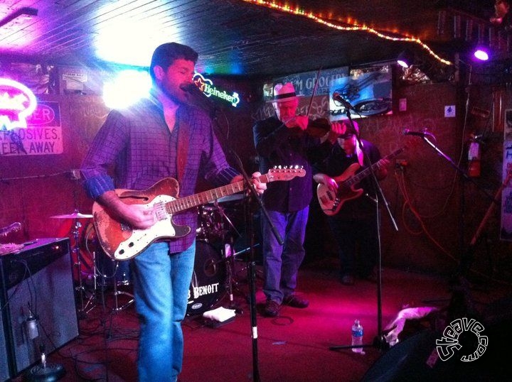
<path id="1" fill-rule="evenodd" d="M 127 222 L 133 228 L 146 229 L 156 223 L 154 207 L 150 204 L 126 204 L 114 191 L 105 192 L 100 196 L 99 202 L 113 212 L 119 220 Z"/>

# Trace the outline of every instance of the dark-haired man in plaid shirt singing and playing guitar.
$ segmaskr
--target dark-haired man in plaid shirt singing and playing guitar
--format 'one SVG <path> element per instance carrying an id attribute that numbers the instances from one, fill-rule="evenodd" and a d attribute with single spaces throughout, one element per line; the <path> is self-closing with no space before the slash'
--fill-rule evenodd
<path id="1" fill-rule="evenodd" d="M 216 186 L 242 180 L 228 165 L 208 114 L 189 104 L 197 59 L 198 54 L 186 45 L 166 43 L 156 48 L 149 67 L 151 96 L 128 109 L 110 111 L 82 163 L 88 195 L 127 229 L 153 227 L 162 204 L 149 203 L 147 197 L 139 197 L 137 203 L 118 195 L 116 189 L 147 190 L 159 180 L 174 178 L 177 182 L 167 193 L 188 197 L 199 178 Z M 257 180 L 254 185 L 257 192 L 266 188 Z M 196 232 L 197 214 L 186 209 L 174 215 L 174 222 Z M 186 314 L 195 239 L 188 234 L 156 241 L 132 261 L 141 324 L 139 381 L 174 382 L 181 371 L 181 321 Z"/>

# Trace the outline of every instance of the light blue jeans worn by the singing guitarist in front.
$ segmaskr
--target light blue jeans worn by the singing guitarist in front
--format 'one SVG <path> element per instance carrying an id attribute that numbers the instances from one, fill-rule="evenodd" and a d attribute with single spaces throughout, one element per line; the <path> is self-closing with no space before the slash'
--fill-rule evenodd
<path id="1" fill-rule="evenodd" d="M 135 306 L 140 337 L 139 381 L 176 381 L 183 363 L 183 332 L 196 243 L 169 255 L 169 244 L 155 243 L 134 258 Z"/>

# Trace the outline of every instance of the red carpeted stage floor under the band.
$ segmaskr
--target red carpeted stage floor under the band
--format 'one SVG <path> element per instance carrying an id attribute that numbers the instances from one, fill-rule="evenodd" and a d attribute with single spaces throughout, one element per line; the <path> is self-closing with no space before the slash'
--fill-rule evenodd
<path id="1" fill-rule="evenodd" d="M 385 345 L 380 341 L 371 346 L 378 339 L 377 285 L 367 280 L 358 280 L 353 286 L 341 285 L 336 259 L 332 258 L 304 264 L 300 271 L 298 293 L 309 299 L 309 307 L 304 310 L 283 307 L 276 318 L 260 314 L 264 295 L 262 280 L 257 277 L 257 339 L 252 340 L 246 298 L 247 272 L 243 266 L 245 263 L 237 261 L 233 267 L 234 303 L 239 308 L 233 321 L 215 327 L 211 322 L 204 322 L 201 315 L 193 315 L 183 322 L 185 358 L 179 381 L 251 381 L 258 376 L 260 381 L 361 381 L 363 378 L 489 381 L 498 380 L 506 373 L 501 357 L 507 353 L 496 351 L 498 342 L 501 340 L 503 344 L 504 339 L 491 328 L 487 354 L 471 362 L 472 365 L 459 359 L 454 362 L 455 357 L 446 363 L 434 357 L 434 364 L 426 366 L 427 359 L 432 361 L 432 354 L 436 353 L 434 339 L 441 338 L 439 332 L 432 330 L 446 327 L 447 308 L 452 309 L 454 305 L 449 305 L 454 293 L 448 281 L 432 275 L 383 269 L 383 329 L 407 307 L 434 307 L 439 312 L 419 320 L 407 320 L 400 334 L 401 342 L 390 350 L 379 349 Z M 130 288 L 119 286 L 119 290 L 128 293 Z M 79 320 L 80 336 L 48 356 L 49 362 L 65 367 L 63 381 L 136 381 L 138 323 L 134 307 L 112 310 L 115 307 L 112 287 L 104 292 L 102 295 L 97 290 L 95 306 Z M 498 288 L 486 283 L 478 289 L 471 288 L 466 302 L 482 313 L 488 310 L 489 302 L 508 293 L 510 290 L 503 285 Z M 227 295 L 218 297 L 223 298 L 210 309 L 230 306 Z M 128 301 L 129 296 L 119 295 L 117 307 Z M 510 302 L 505 301 L 507 310 Z M 456 308 L 464 314 L 467 304 L 462 305 Z M 485 321 L 484 327 L 488 321 L 503 322 L 496 315 L 491 320 L 484 315 L 479 317 Z M 330 349 L 330 346 L 350 344 L 351 324 L 355 319 L 361 320 L 363 342 L 370 346 L 362 354 L 351 349 Z M 509 315 L 505 319 L 507 324 L 502 327 L 509 331 Z M 469 348 L 476 349 L 474 344 L 470 342 Z M 21 379 L 21 376 L 16 378 Z"/>

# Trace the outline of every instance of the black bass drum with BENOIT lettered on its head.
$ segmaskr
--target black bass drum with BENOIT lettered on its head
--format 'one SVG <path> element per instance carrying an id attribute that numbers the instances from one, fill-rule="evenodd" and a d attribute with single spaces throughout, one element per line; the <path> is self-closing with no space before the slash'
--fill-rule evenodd
<path id="1" fill-rule="evenodd" d="M 225 279 L 225 261 L 220 252 L 205 241 L 196 241 L 187 315 L 201 315 L 218 302 L 225 292 Z"/>

